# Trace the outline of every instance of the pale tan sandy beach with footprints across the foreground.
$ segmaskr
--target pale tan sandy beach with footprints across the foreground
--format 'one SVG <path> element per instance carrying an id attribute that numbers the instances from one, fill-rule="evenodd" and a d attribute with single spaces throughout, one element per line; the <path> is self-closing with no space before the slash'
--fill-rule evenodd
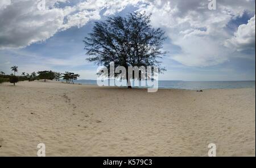
<path id="1" fill-rule="evenodd" d="M 255 156 L 255 89 L 0 85 L 0 156 Z"/>

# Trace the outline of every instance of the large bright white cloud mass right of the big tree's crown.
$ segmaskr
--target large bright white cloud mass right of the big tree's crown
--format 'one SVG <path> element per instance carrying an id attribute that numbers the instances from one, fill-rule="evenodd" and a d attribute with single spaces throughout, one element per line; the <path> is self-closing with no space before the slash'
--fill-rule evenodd
<path id="1" fill-rule="evenodd" d="M 245 11 L 255 13 L 255 1 L 217 1 L 217 10 L 208 10 L 208 3 L 201 0 L 149 1 L 140 11 L 152 13 L 152 24 L 163 28 L 172 45 L 180 47 L 180 53 L 170 55 L 172 59 L 186 66 L 213 66 L 232 56 L 233 50 L 224 45 L 232 36 L 226 25 Z M 250 36 L 253 28 L 243 32 L 243 36 Z M 250 40 L 253 39 L 255 44 L 255 25 Z"/>

